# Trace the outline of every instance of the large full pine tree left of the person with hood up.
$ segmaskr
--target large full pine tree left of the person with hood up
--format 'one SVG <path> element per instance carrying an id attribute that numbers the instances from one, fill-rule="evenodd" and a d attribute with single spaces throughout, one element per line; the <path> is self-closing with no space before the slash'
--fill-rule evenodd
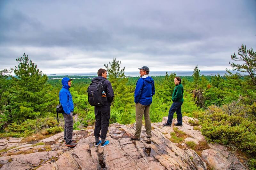
<path id="1" fill-rule="evenodd" d="M 54 96 L 50 94 L 51 85 L 46 84 L 46 74 L 25 53 L 16 61 L 19 65 L 12 70 L 18 78 L 13 78 L 16 90 L 9 106 L 13 121 L 23 121 L 53 112 Z"/>

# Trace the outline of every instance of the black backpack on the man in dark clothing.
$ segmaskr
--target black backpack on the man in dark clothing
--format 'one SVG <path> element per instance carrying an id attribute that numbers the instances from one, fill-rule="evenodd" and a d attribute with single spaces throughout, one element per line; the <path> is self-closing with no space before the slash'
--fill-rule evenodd
<path id="1" fill-rule="evenodd" d="M 107 101 L 106 91 L 103 85 L 103 81 L 105 80 L 107 79 L 92 81 L 92 83 L 88 87 L 88 102 L 92 106 L 102 106 Z M 102 93 L 104 91 L 105 93 Z"/>

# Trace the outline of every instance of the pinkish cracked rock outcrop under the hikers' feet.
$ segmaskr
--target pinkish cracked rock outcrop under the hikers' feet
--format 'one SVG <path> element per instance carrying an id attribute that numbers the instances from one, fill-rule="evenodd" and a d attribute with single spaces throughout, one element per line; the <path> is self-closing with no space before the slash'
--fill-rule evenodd
<path id="1" fill-rule="evenodd" d="M 0 146 L 5 149 L 0 157 L 1 170 L 248 169 L 234 149 L 207 144 L 201 132 L 188 124 L 189 119 L 196 121 L 183 117 L 183 126 L 177 126 L 186 136 L 179 143 L 172 142 L 171 134 L 177 129 L 164 127 L 163 122 L 152 124 L 151 138 L 147 138 L 143 126 L 140 141 L 130 140 L 135 131 L 134 124 L 111 124 L 107 135 L 110 144 L 104 148 L 94 146 L 93 127 L 74 131 L 73 139 L 77 140 L 74 148 L 63 144 L 63 132 L 33 143 L 22 143 L 20 138 L 1 139 Z M 195 145 L 194 150 L 188 142 Z M 10 147 L 13 143 L 15 145 Z"/>

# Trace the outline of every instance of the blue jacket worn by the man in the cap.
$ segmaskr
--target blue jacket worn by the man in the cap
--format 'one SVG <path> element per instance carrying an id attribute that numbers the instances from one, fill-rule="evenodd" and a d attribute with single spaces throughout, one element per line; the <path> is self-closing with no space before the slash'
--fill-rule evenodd
<path id="1" fill-rule="evenodd" d="M 134 102 L 142 105 L 152 103 L 152 96 L 155 95 L 155 82 L 148 74 L 139 78 L 134 92 Z"/>

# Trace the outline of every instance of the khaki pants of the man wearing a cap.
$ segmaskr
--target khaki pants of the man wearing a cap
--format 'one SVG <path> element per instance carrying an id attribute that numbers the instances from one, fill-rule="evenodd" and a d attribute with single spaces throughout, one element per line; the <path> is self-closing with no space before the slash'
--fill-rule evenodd
<path id="1" fill-rule="evenodd" d="M 146 133 L 147 133 L 147 135 L 151 136 L 151 121 L 150 121 L 150 117 L 149 117 L 149 107 L 150 107 L 150 104 L 147 106 L 142 105 L 140 103 L 135 104 L 136 131 L 134 133 L 134 136 L 136 136 L 137 138 L 140 138 L 143 114 L 144 114 L 144 120 L 145 120 Z"/>

